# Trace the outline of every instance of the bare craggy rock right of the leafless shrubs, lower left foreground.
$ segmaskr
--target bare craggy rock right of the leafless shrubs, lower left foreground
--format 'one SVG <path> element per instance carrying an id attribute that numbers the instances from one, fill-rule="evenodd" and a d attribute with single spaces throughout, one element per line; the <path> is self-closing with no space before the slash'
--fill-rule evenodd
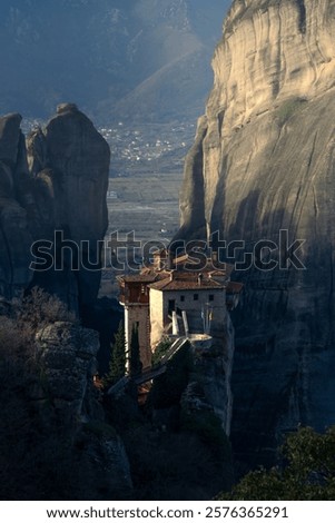
<path id="1" fill-rule="evenodd" d="M 38 399 L 43 404 L 49 398 L 62 426 L 72 426 L 73 460 L 79 476 L 86 477 L 77 489 L 85 499 L 105 499 L 106 493 L 121 499 L 132 482 L 124 443 L 105 422 L 93 387 L 99 346 L 97 332 L 73 323 L 55 322 L 38 330 L 36 359 L 42 376 Z"/>

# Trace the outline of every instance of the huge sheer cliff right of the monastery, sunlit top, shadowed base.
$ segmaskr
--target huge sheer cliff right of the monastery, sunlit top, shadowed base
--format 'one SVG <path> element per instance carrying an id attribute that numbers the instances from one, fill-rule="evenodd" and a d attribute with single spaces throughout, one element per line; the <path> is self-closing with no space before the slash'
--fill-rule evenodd
<path id="1" fill-rule="evenodd" d="M 239 260 L 272 241 L 256 249 L 272 270 L 256 256 L 237 272 L 233 433 L 250 455 L 335 420 L 334 37 L 334 0 L 235 1 L 186 159 L 178 236 L 219 230 Z"/>

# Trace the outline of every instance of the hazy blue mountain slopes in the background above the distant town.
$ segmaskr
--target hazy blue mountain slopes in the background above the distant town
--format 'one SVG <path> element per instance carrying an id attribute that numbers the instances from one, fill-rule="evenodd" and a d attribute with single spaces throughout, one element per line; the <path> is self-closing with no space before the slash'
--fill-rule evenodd
<path id="1" fill-rule="evenodd" d="M 196 118 L 230 2 L 3 0 L 0 112 L 73 101 L 99 122 Z"/>

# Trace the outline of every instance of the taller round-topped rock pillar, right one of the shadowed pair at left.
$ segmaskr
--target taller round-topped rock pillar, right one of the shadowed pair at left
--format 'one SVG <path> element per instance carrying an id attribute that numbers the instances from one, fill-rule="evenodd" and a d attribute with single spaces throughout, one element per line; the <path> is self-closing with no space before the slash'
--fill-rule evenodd
<path id="1" fill-rule="evenodd" d="M 66 273 L 76 268 L 76 282 L 67 278 L 65 290 L 68 287 L 79 296 L 85 313 L 100 284 L 101 246 L 98 241 L 104 240 L 108 226 L 109 147 L 73 103 L 63 103 L 58 106 L 56 117 L 45 130 L 38 129 L 28 138 L 28 160 L 39 184 L 37 199 L 41 213 L 47 214 L 43 221 L 50 224 L 49 234 L 51 229 L 52 233 L 61 230 L 63 240 L 70 241 L 71 254 L 60 241 L 56 257 L 62 260 Z M 48 273 L 46 275 L 50 280 Z M 41 280 L 45 287 L 46 275 L 37 275 L 35 282 Z M 59 294 L 63 284 L 57 272 L 51 285 L 47 289 Z"/>

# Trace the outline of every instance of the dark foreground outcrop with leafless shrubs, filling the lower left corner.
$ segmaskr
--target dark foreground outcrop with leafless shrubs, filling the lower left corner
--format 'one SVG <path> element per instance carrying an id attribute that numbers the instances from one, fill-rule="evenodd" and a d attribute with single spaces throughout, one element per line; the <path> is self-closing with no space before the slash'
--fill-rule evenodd
<path id="1" fill-rule="evenodd" d="M 129 499 L 125 446 L 93 382 L 98 333 L 41 290 L 0 313 L 1 497 Z"/>

